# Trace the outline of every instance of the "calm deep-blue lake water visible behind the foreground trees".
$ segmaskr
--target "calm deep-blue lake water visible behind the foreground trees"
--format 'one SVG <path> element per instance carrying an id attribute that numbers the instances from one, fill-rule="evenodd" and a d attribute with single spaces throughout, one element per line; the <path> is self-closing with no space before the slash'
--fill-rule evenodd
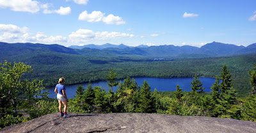
<path id="1" fill-rule="evenodd" d="M 157 91 L 159 92 L 175 91 L 176 85 L 179 85 L 180 88 L 182 88 L 182 91 L 190 92 L 190 82 L 193 81 L 193 78 L 134 78 L 134 80 L 138 83 L 138 85 L 140 85 L 140 87 L 146 80 L 147 83 L 150 85 L 152 91 L 154 91 L 155 88 L 157 88 Z M 215 82 L 215 78 L 200 77 L 200 81 L 202 81 L 203 87 L 205 87 L 204 92 L 211 92 L 211 85 Z M 122 80 L 122 82 L 124 83 L 124 80 Z M 68 99 L 74 98 L 78 86 L 79 85 L 65 85 Z M 81 84 L 81 86 L 86 88 L 88 86 L 88 83 Z M 99 81 L 92 83 L 92 87 L 96 86 L 104 88 L 106 91 L 109 90 L 107 81 Z M 113 87 L 113 91 L 116 91 L 117 88 L 118 87 Z M 54 93 L 54 87 L 45 89 L 44 91 L 46 90 L 49 90 L 49 97 L 56 97 L 56 94 Z"/>

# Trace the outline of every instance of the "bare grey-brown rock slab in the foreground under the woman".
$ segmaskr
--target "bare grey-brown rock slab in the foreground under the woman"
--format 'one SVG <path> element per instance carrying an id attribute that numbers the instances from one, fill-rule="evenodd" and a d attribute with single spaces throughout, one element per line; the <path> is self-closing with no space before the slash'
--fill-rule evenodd
<path id="1" fill-rule="evenodd" d="M 203 116 L 147 113 L 52 113 L 0 132 L 256 132 L 256 122 Z"/>

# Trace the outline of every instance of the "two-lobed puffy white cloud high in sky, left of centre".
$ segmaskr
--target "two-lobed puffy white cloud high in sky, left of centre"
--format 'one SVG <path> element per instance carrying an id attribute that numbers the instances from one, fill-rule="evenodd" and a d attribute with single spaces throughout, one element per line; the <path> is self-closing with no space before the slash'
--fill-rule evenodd
<path id="1" fill-rule="evenodd" d="M 116 25 L 125 24 L 124 20 L 119 16 L 110 14 L 107 17 L 104 17 L 104 15 L 105 15 L 105 13 L 102 13 L 101 11 L 92 11 L 92 13 L 83 11 L 82 13 L 80 13 L 78 20 L 85 20 L 87 22 L 102 21 L 105 24 L 116 24 Z"/>

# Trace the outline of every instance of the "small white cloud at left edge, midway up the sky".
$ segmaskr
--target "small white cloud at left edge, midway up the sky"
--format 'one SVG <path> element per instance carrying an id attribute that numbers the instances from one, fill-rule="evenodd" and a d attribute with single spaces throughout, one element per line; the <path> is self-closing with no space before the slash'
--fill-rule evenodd
<path id="1" fill-rule="evenodd" d="M 12 24 L 0 24 L 0 32 L 10 32 L 10 33 L 24 33 L 28 31 L 28 27 L 18 27 Z"/>

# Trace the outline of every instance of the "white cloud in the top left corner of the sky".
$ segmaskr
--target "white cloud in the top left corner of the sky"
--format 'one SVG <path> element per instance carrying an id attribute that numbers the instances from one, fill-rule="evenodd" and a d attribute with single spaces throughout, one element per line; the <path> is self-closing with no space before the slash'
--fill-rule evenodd
<path id="1" fill-rule="evenodd" d="M 38 1 L 31 0 L 0 0 L 1 8 L 10 8 L 12 11 L 27 11 L 36 13 L 40 10 Z"/>

